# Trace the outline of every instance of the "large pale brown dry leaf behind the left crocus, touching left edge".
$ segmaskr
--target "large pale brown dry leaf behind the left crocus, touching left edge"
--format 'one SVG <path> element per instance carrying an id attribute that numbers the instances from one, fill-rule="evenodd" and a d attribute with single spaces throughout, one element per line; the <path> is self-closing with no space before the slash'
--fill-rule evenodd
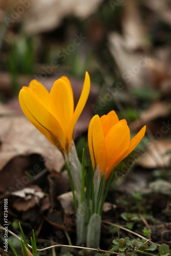
<path id="1" fill-rule="evenodd" d="M 2 117 L 0 126 L 0 170 L 18 155 L 39 154 L 48 169 L 60 171 L 61 153 L 24 116 Z"/>

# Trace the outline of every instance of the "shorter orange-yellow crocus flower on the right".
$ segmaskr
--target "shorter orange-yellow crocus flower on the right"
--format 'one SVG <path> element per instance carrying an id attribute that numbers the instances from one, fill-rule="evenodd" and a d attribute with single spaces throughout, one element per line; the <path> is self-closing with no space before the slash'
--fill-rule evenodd
<path id="1" fill-rule="evenodd" d="M 130 129 L 126 120 L 120 120 L 111 111 L 101 118 L 95 115 L 89 124 L 88 142 L 93 169 L 99 168 L 100 174 L 108 179 L 114 167 L 127 157 L 138 145 L 145 134 L 146 126 L 130 140 Z"/>

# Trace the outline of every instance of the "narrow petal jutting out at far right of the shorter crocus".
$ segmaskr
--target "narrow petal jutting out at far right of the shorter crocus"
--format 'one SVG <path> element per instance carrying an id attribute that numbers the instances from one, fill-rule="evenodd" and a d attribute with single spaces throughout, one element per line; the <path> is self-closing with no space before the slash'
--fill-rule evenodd
<path id="1" fill-rule="evenodd" d="M 146 126 L 143 126 L 142 129 L 132 138 L 132 140 L 130 141 L 129 148 L 115 161 L 114 166 L 112 168 L 116 167 L 125 157 L 127 157 L 136 148 L 136 146 L 144 137 L 145 130 Z"/>

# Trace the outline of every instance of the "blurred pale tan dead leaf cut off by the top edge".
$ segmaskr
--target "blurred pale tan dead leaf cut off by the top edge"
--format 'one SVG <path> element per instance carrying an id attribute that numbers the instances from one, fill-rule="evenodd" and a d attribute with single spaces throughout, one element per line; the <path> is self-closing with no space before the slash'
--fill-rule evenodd
<path id="1" fill-rule="evenodd" d="M 16 21 L 22 21 L 26 33 L 35 34 L 57 28 L 62 19 L 67 16 L 76 16 L 81 19 L 93 14 L 102 0 L 36 0 L 31 1 L 29 8 L 25 9 Z M 18 3 L 18 6 L 20 2 Z M 16 6 L 17 9 L 17 6 Z M 47 11 L 48 10 L 48 11 Z"/>

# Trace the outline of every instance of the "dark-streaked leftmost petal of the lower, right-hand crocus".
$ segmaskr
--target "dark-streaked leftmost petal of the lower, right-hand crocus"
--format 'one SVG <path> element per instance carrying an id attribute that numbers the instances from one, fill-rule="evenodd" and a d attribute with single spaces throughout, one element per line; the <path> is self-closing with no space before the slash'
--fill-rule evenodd
<path id="1" fill-rule="evenodd" d="M 89 151 L 92 159 L 94 170 L 98 164 L 101 173 L 106 166 L 106 146 L 100 117 L 95 115 L 89 124 L 88 131 Z"/>

